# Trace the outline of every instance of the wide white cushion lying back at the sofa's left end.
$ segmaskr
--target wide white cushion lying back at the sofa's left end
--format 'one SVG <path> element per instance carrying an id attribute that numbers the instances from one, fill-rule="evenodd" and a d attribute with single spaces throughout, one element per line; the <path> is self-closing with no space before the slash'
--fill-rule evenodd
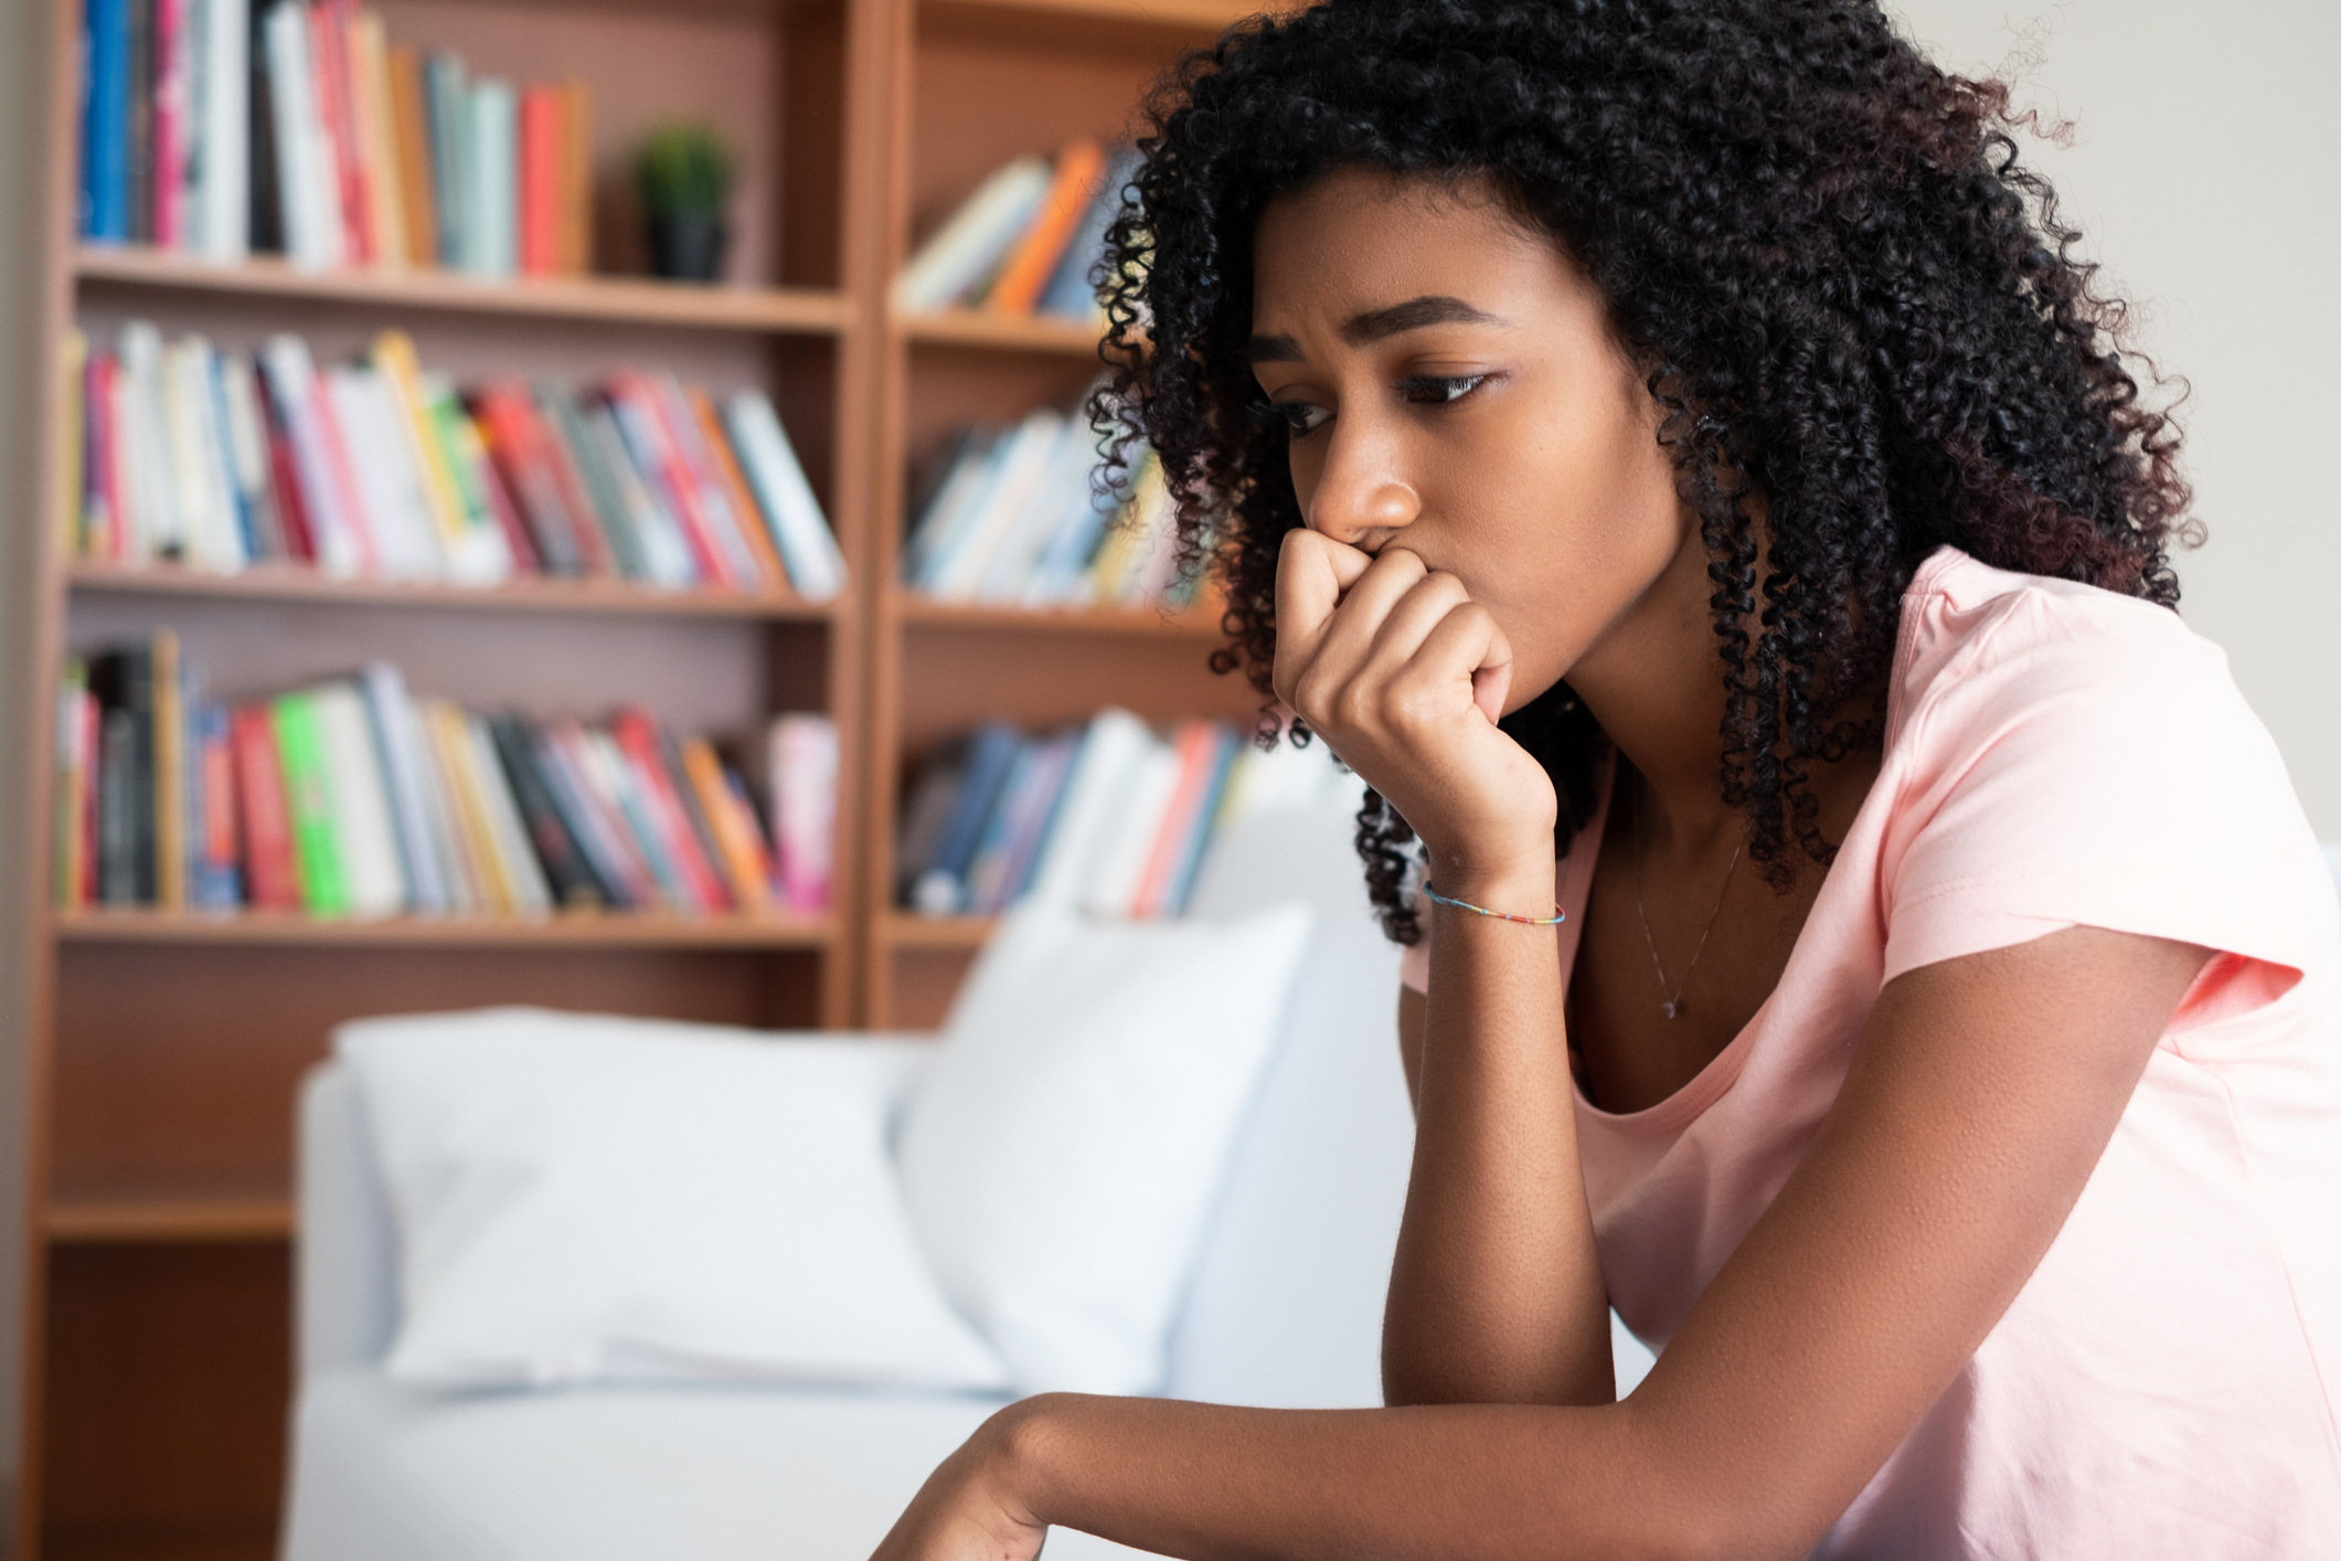
<path id="1" fill-rule="evenodd" d="M 925 1046 L 536 1009 L 337 1032 L 400 1226 L 396 1378 L 997 1388 L 911 1233 Z"/>

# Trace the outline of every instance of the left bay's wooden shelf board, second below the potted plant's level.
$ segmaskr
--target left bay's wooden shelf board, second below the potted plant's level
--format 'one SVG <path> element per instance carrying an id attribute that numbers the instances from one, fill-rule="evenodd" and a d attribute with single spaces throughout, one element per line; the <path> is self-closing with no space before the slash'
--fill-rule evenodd
<path id="1" fill-rule="evenodd" d="M 520 613 L 616 613 L 634 618 L 761 618 L 826 623 L 836 601 L 723 590 L 655 590 L 630 580 L 520 578 L 506 585 L 335 580 L 314 569 L 260 564 L 243 573 L 204 573 L 176 564 L 70 564 L 75 592 L 208 597 L 220 601 L 328 601 L 349 606 L 431 606 Z"/>

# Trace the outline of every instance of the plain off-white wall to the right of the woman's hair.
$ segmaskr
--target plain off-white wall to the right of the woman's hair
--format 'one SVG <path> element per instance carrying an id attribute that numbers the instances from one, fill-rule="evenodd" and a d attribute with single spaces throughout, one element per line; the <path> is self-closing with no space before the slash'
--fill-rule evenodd
<path id="1" fill-rule="evenodd" d="M 2002 61 L 2072 119 L 2023 154 L 2055 180 L 2140 344 L 2194 398 L 2186 475 L 2210 527 L 2182 611 L 2226 646 L 2341 840 L 2341 5 L 2334 0 L 1889 0 L 1936 59 Z M 1997 70 L 1995 70 L 1997 73 Z"/>

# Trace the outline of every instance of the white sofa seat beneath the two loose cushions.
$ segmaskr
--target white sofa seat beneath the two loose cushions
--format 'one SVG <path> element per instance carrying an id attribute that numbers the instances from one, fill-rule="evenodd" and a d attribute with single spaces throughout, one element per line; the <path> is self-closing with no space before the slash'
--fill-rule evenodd
<path id="1" fill-rule="evenodd" d="M 286 1561 L 869 1561 L 1000 1397 L 873 1388 L 300 1397 Z M 1049 1561 L 1140 1552 L 1070 1528 Z"/>

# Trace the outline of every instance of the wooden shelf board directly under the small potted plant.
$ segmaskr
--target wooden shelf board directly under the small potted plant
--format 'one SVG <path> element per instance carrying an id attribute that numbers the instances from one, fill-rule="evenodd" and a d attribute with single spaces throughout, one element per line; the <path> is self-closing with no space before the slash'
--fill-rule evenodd
<path id="1" fill-rule="evenodd" d="M 220 264 L 143 246 L 82 246 L 73 255 L 73 274 L 84 283 L 297 297 L 375 309 L 449 309 L 773 335 L 838 335 L 854 318 L 854 300 L 822 288 L 700 288 L 634 276 L 480 281 L 454 271 L 302 271 L 267 255 Z"/>

